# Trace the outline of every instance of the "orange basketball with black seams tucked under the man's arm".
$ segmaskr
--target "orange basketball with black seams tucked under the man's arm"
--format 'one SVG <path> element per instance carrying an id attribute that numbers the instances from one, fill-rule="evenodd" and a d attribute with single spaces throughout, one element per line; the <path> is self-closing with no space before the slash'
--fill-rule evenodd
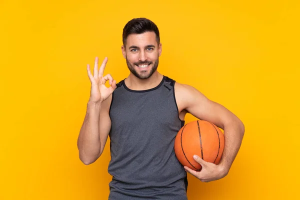
<path id="1" fill-rule="evenodd" d="M 223 149 L 222 131 L 205 120 L 186 123 L 178 131 L 174 143 L 175 154 L 179 162 L 196 171 L 201 170 L 201 165 L 193 159 L 194 154 L 207 162 L 218 164 Z"/>

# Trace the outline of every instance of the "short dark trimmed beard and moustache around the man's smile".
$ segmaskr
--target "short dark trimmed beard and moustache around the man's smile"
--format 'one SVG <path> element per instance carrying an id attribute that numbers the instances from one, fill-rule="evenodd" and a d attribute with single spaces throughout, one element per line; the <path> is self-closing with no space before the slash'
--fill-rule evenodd
<path id="1" fill-rule="evenodd" d="M 129 62 L 129 60 L 127 59 L 127 56 L 126 56 L 126 63 L 127 63 L 127 66 L 128 66 L 128 69 L 130 70 L 131 73 L 133 73 L 133 75 L 135 75 L 136 77 L 140 78 L 140 79 L 146 79 L 146 78 L 149 78 L 151 77 L 151 75 L 156 71 L 157 67 L 158 67 L 158 56 L 157 56 L 157 59 L 155 60 L 152 68 L 150 69 L 150 72 L 147 73 L 146 70 L 141 70 L 140 73 L 138 73 L 134 66 L 136 66 L 136 64 L 152 64 L 153 62 L 151 61 L 143 61 L 143 62 L 134 62 L 133 65 Z M 138 66 L 136 66 L 138 67 Z"/>

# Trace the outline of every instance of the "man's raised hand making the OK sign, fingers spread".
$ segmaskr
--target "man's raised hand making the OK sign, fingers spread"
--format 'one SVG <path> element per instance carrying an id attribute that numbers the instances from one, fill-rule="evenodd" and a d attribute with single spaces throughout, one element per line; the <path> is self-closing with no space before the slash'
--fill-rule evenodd
<path id="1" fill-rule="evenodd" d="M 94 63 L 94 74 L 92 76 L 90 72 L 89 64 L 87 64 L 87 75 L 91 82 L 91 89 L 90 89 L 90 102 L 102 102 L 114 91 L 116 88 L 116 81 L 112 78 L 110 74 L 103 76 L 104 68 L 107 62 L 107 57 L 104 58 L 100 69 L 98 71 L 98 57 L 95 58 Z M 105 86 L 105 82 L 109 80 L 110 87 Z"/>

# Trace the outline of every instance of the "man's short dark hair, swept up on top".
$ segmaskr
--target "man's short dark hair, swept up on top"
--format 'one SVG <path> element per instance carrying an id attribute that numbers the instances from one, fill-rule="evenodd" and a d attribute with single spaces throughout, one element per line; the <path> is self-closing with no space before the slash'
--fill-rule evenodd
<path id="1" fill-rule="evenodd" d="M 147 18 L 133 18 L 130 21 L 126 23 L 126 25 L 123 28 L 123 45 L 125 46 L 126 39 L 129 34 L 135 33 L 140 34 L 147 31 L 154 31 L 156 34 L 156 41 L 159 44 L 160 37 L 159 37 L 159 31 L 156 24 L 147 19 Z"/>

